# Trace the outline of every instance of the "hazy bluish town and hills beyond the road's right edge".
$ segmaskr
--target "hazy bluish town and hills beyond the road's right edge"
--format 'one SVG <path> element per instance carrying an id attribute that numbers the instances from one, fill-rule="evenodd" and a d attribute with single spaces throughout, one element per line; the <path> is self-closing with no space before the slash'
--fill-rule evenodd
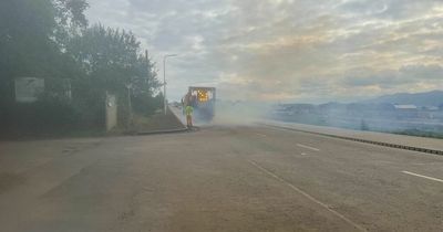
<path id="1" fill-rule="evenodd" d="M 300 124 L 443 138 L 443 92 L 382 96 L 351 104 L 279 104 L 272 107 L 271 117 Z"/>

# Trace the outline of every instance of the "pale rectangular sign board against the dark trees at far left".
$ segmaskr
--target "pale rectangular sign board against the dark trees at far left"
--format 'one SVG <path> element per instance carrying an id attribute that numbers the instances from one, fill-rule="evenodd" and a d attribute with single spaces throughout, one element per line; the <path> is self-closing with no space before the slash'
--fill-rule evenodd
<path id="1" fill-rule="evenodd" d="M 16 78 L 16 101 L 18 103 L 34 103 L 44 92 L 44 78 Z"/>

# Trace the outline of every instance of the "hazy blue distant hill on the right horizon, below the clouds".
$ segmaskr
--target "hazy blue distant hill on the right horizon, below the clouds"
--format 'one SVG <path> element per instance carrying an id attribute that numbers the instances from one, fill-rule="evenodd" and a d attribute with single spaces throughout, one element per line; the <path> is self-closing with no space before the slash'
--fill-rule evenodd
<path id="1" fill-rule="evenodd" d="M 361 103 L 369 104 L 400 104 L 400 105 L 416 105 L 416 106 L 440 106 L 443 104 L 443 91 L 432 91 L 416 94 L 392 94 L 384 95 L 373 99 L 363 101 Z"/>

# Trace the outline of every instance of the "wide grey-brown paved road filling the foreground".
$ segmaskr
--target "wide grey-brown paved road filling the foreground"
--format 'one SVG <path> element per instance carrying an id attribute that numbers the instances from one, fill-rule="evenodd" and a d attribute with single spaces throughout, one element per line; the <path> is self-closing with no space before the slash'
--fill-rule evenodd
<path id="1" fill-rule="evenodd" d="M 268 127 L 0 143 L 1 231 L 442 231 L 443 157 Z"/>

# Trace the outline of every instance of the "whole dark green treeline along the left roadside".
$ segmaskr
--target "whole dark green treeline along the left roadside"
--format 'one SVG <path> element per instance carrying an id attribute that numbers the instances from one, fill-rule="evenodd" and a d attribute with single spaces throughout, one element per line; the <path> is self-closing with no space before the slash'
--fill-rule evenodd
<path id="1" fill-rule="evenodd" d="M 0 1 L 1 133 L 103 128 L 106 93 L 117 96 L 121 125 L 128 97 L 140 114 L 161 106 L 155 64 L 137 39 L 125 30 L 90 27 L 87 7 L 86 0 Z M 17 77 L 45 80 L 37 103 L 16 103 Z"/>

